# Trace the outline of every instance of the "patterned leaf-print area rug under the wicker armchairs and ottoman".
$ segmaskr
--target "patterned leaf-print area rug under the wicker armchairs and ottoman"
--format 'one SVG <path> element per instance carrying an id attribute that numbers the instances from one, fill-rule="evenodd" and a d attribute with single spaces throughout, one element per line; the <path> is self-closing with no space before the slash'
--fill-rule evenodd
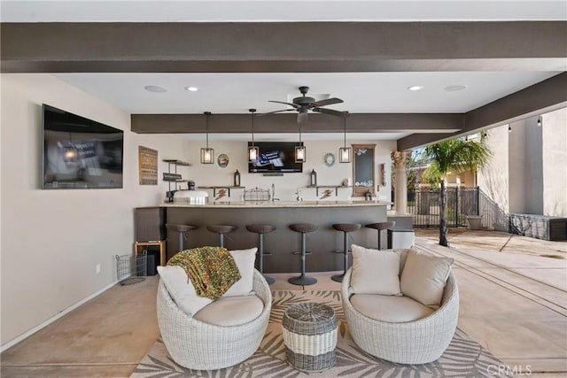
<path id="1" fill-rule="evenodd" d="M 258 351 L 243 363 L 214 371 L 187 369 L 175 364 L 159 339 L 131 377 L 493 377 L 495 368 L 502 365 L 500 360 L 470 340 L 460 329 L 457 329 L 443 356 L 430 364 L 401 365 L 370 356 L 356 346 L 348 333 L 340 291 L 273 291 L 273 302 L 266 336 Z M 337 363 L 322 373 L 299 372 L 285 360 L 283 312 L 289 306 L 302 302 L 330 305 L 338 315 Z"/>

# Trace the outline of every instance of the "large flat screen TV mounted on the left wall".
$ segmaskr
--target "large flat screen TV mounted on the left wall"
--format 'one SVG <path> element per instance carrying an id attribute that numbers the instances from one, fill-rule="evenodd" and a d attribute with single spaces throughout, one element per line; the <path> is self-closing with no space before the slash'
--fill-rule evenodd
<path id="1" fill-rule="evenodd" d="M 43 104 L 43 189 L 122 188 L 124 132 Z"/>

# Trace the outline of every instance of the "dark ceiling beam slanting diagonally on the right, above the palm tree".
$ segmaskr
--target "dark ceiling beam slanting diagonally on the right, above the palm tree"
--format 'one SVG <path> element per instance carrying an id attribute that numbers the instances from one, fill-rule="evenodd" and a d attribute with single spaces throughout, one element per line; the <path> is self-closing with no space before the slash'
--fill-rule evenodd
<path id="1" fill-rule="evenodd" d="M 411 150 L 459 135 L 474 134 L 486 128 L 501 126 L 536 114 L 551 112 L 567 104 L 567 73 L 504 96 L 492 103 L 463 114 L 460 131 L 439 134 L 414 134 L 398 140 L 398 150 Z"/>

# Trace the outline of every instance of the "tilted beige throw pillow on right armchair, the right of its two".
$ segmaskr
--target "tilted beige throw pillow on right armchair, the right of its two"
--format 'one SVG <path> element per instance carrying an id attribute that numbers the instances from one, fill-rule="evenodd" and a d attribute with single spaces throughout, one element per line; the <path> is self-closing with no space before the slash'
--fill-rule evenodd
<path id="1" fill-rule="evenodd" d="M 400 278 L 401 292 L 422 305 L 439 308 L 453 262 L 453 258 L 408 251 Z"/>

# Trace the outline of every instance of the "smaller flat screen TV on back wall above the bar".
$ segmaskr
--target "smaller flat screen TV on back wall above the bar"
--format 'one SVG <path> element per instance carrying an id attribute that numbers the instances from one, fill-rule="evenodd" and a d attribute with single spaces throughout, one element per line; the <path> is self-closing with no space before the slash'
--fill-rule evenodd
<path id="1" fill-rule="evenodd" d="M 303 163 L 295 162 L 295 146 L 303 145 L 297 142 L 255 142 L 258 147 L 258 159 L 248 163 L 251 174 L 267 173 L 300 173 Z M 248 142 L 252 146 L 252 142 Z"/>

